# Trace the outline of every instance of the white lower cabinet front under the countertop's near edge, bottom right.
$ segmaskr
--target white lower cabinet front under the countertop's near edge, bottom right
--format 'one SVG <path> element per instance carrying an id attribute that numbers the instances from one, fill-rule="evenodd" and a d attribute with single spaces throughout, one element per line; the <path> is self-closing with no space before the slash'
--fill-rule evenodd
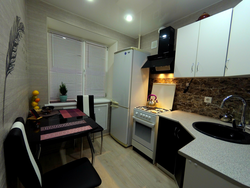
<path id="1" fill-rule="evenodd" d="M 186 159 L 183 188 L 240 188 L 215 173 Z"/>

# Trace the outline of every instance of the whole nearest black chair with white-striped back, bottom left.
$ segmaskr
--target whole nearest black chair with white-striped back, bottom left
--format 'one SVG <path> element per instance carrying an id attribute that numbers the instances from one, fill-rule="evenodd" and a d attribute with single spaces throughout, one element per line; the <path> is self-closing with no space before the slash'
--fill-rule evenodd
<path id="1" fill-rule="evenodd" d="M 98 173 L 87 158 L 42 174 L 31 153 L 23 122 L 18 118 L 4 141 L 7 180 L 9 175 L 18 177 L 25 188 L 90 188 L 101 184 Z"/>

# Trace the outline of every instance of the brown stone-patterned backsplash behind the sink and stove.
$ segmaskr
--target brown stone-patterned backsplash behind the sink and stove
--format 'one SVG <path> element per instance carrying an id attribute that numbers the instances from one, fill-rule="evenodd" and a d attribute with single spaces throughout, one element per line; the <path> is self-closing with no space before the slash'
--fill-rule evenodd
<path id="1" fill-rule="evenodd" d="M 191 82 L 191 83 L 190 83 Z M 220 119 L 220 115 L 230 113 L 240 121 L 242 102 L 230 98 L 221 109 L 222 100 L 228 95 L 238 95 L 247 102 L 246 124 L 250 124 L 250 78 L 158 78 L 150 76 L 149 92 L 153 83 L 175 83 L 176 91 L 173 110 L 182 110 Z M 190 86 L 186 92 L 186 84 Z M 212 97 L 212 103 L 204 102 L 205 97 Z"/>

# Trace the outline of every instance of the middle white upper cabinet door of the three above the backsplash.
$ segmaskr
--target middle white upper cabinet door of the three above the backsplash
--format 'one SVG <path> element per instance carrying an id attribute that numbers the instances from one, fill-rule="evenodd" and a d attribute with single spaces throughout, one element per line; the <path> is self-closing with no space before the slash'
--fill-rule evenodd
<path id="1" fill-rule="evenodd" d="M 195 76 L 224 76 L 231 18 L 229 9 L 201 21 Z"/>

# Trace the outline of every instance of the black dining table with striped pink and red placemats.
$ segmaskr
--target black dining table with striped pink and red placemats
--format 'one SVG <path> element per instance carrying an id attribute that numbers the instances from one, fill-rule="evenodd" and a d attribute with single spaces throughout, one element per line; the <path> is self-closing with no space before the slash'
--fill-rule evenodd
<path id="1" fill-rule="evenodd" d="M 79 109 L 53 110 L 39 113 L 42 118 L 28 117 L 25 130 L 33 155 L 39 159 L 41 149 L 46 145 L 87 137 L 94 163 L 94 146 L 90 132 L 100 125 Z M 81 142 L 82 144 L 82 142 Z M 82 145 L 80 156 L 82 153 Z"/>

